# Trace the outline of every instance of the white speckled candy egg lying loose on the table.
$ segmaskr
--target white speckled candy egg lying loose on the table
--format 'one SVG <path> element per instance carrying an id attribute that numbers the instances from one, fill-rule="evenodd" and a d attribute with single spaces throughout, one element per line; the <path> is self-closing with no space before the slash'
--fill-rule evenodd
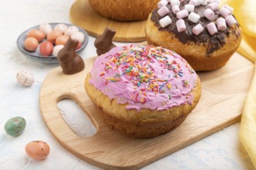
<path id="1" fill-rule="evenodd" d="M 34 77 L 28 71 L 22 70 L 16 75 L 18 83 L 24 87 L 29 87 L 34 83 Z"/>

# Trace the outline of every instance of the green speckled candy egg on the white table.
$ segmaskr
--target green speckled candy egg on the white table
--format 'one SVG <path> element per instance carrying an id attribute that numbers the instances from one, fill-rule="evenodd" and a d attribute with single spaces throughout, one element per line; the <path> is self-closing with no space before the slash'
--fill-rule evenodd
<path id="1" fill-rule="evenodd" d="M 12 117 L 5 123 L 5 131 L 10 136 L 19 136 L 26 127 L 26 121 L 23 117 Z"/>

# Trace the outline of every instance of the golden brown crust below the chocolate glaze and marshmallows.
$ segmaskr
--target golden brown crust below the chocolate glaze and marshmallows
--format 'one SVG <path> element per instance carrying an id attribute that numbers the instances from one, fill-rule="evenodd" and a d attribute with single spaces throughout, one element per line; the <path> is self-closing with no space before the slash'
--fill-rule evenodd
<path id="1" fill-rule="evenodd" d="M 149 45 L 163 46 L 166 49 L 174 50 L 185 58 L 196 71 L 216 70 L 224 66 L 230 57 L 235 53 L 242 39 L 240 27 L 232 26 L 233 34 L 226 36 L 227 42 L 220 49 L 217 49 L 209 56 L 206 56 L 207 43 L 188 42 L 182 43 L 175 37 L 175 34 L 168 31 L 159 31 L 154 22 L 147 19 L 145 34 Z M 240 36 L 236 36 L 240 35 Z"/>

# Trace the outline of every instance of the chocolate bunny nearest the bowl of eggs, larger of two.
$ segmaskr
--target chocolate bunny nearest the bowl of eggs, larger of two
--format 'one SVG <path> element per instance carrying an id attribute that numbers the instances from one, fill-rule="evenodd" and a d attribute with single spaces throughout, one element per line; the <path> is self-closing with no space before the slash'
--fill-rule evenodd
<path id="1" fill-rule="evenodd" d="M 85 69 L 84 60 L 75 53 L 77 46 L 78 40 L 68 39 L 66 45 L 57 54 L 64 74 L 74 74 Z"/>

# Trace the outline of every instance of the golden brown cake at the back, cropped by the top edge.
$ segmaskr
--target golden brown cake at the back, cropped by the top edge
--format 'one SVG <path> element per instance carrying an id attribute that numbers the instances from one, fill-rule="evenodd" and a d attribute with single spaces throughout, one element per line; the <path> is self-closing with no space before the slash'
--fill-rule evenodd
<path id="1" fill-rule="evenodd" d="M 117 21 L 137 21 L 147 19 L 150 12 L 157 7 L 158 0 L 88 0 L 99 13 Z"/>

